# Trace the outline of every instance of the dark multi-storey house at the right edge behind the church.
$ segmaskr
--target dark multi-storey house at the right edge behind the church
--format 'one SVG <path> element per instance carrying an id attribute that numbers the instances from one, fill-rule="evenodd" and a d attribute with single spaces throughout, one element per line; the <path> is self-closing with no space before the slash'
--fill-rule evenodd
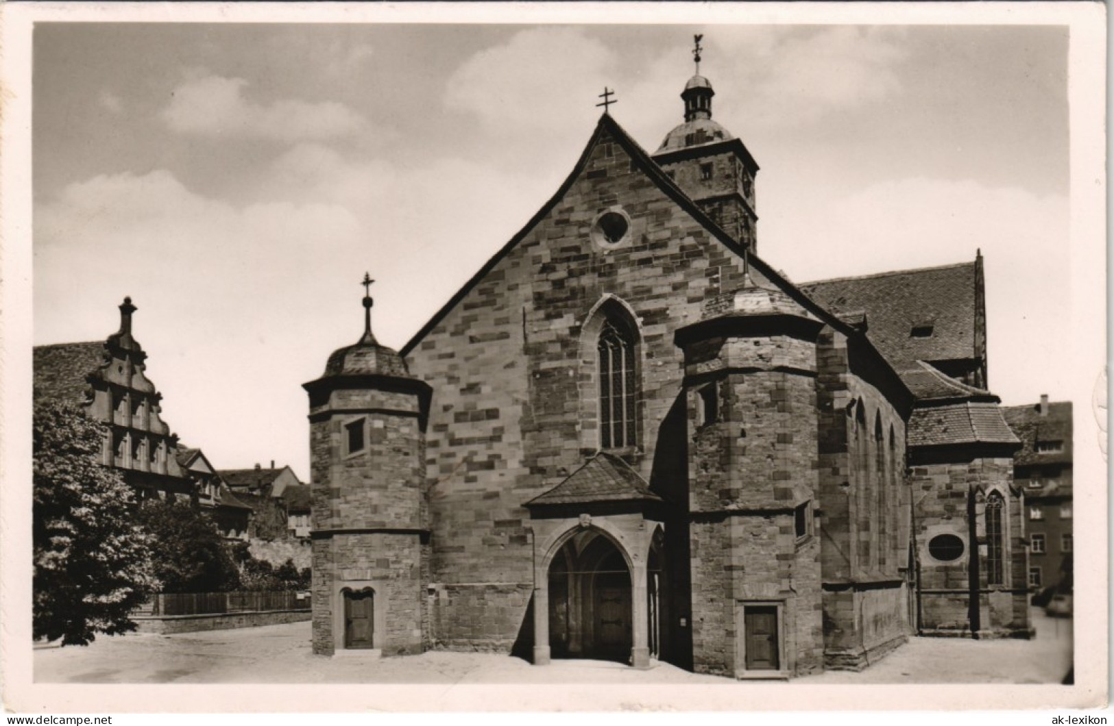
<path id="1" fill-rule="evenodd" d="M 1006 421 L 1022 440 L 1014 479 L 1025 492 L 1028 586 L 1072 587 L 1072 402 L 1008 406 Z"/>

